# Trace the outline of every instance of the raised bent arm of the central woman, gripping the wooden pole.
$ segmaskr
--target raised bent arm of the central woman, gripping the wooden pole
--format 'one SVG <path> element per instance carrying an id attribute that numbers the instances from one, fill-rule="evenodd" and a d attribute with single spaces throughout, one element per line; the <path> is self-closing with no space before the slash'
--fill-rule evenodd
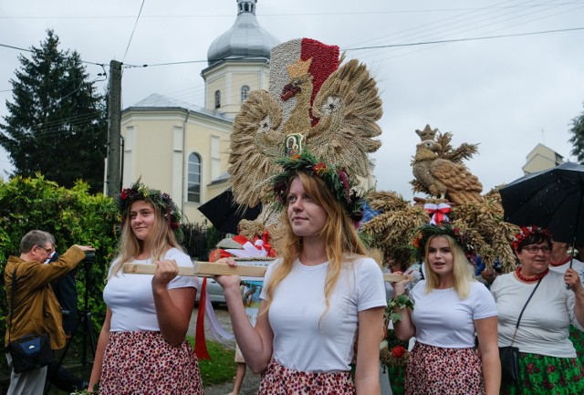
<path id="1" fill-rule="evenodd" d="M 255 327 L 245 315 L 245 307 L 239 288 L 240 278 L 237 275 L 219 275 L 217 283 L 223 286 L 227 309 L 234 327 L 235 340 L 241 348 L 245 362 L 254 373 L 261 373 L 267 368 L 272 358 L 274 333 L 267 319 L 266 301 L 262 300 Z"/>

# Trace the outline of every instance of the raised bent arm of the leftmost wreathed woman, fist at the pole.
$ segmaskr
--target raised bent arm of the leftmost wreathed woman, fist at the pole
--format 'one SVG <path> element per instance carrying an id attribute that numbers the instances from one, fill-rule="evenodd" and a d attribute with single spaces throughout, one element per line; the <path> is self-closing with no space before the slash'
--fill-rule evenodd
<path id="1" fill-rule="evenodd" d="M 172 346 L 183 343 L 193 314 L 197 290 L 193 287 L 168 289 L 168 283 L 178 274 L 173 260 L 156 262 L 156 274 L 152 277 L 152 295 L 156 318 L 162 338 Z"/>

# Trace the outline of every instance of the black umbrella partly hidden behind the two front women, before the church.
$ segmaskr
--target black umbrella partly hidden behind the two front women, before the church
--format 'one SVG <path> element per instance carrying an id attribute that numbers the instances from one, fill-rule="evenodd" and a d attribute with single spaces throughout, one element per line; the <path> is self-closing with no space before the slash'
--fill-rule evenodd
<path id="1" fill-rule="evenodd" d="M 255 220 L 262 211 L 262 205 L 247 207 L 234 201 L 234 193 L 231 188 L 215 196 L 209 202 L 199 207 L 199 211 L 214 227 L 226 234 L 237 234 L 237 224 L 241 220 Z"/>

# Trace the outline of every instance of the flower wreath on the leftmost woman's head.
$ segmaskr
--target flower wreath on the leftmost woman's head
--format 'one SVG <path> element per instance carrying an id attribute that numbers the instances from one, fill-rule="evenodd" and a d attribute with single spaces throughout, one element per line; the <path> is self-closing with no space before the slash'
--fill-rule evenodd
<path id="1" fill-rule="evenodd" d="M 118 195 L 118 208 L 122 216 L 122 223 L 130 211 L 131 203 L 141 200 L 152 203 L 160 210 L 162 217 L 166 218 L 169 227 L 174 232 L 177 242 L 181 243 L 183 240 L 183 232 L 181 230 L 183 214 L 181 210 L 176 203 L 172 202 L 171 196 L 168 193 L 150 189 L 141 183 L 140 179 L 131 184 L 130 188 L 121 190 L 120 195 Z"/>

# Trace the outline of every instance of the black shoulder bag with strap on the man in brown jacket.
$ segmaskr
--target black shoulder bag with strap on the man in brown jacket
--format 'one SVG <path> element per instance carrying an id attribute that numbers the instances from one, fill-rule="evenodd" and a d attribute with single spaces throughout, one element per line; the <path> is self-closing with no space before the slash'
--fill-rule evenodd
<path id="1" fill-rule="evenodd" d="M 12 358 L 12 369 L 15 373 L 41 369 L 53 359 L 51 341 L 47 333 L 42 335 L 26 335 L 12 341 L 12 316 L 15 311 L 16 269 L 12 272 L 12 300 L 10 302 L 10 321 L 8 323 L 8 352 Z"/>

